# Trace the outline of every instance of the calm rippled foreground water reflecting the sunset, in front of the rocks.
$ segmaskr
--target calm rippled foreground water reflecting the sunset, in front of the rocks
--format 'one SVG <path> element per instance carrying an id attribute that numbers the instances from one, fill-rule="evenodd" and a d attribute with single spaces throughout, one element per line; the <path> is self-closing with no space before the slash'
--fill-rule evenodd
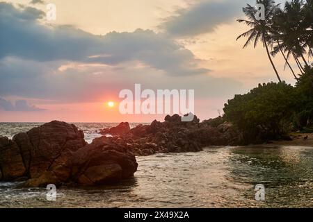
<path id="1" fill-rule="evenodd" d="M 45 189 L 0 182 L 0 207 L 313 207 L 313 147 L 209 147 L 137 161 L 131 180 L 57 187 L 56 201 Z M 257 184 L 265 186 L 264 202 L 255 200 Z"/>

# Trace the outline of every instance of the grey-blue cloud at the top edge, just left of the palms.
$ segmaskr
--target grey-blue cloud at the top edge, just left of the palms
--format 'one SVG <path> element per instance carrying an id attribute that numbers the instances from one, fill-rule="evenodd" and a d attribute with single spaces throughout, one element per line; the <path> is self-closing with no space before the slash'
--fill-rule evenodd
<path id="1" fill-rule="evenodd" d="M 245 5 L 246 2 L 234 0 L 200 1 L 189 8 L 177 10 L 176 15 L 165 19 L 159 28 L 175 37 L 210 33 L 220 24 L 235 21 Z"/>

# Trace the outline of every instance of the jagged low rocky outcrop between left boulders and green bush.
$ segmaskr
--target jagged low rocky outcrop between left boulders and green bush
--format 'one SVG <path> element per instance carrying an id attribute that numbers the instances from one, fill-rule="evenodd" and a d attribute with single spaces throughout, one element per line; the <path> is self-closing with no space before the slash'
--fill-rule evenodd
<path id="1" fill-rule="evenodd" d="M 111 138 L 119 146 L 135 155 L 169 152 L 197 152 L 205 146 L 236 146 L 238 133 L 230 123 L 212 127 L 200 123 L 198 117 L 183 122 L 175 114 L 166 116 L 164 122 L 154 120 L 150 125 L 140 124 L 124 135 Z"/>

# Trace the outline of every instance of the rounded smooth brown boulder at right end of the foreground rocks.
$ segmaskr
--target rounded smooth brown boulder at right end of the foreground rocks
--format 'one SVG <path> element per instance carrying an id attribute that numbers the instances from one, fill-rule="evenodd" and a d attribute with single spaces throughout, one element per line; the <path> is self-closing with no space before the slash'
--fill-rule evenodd
<path id="1" fill-rule="evenodd" d="M 81 178 L 88 178 L 95 185 L 134 176 L 138 167 L 133 153 L 116 144 L 114 138 L 110 137 L 94 139 L 92 144 L 79 149 L 73 154 L 71 164 L 73 169 L 79 169 L 72 173 L 79 184 Z M 101 170 L 99 166 L 102 166 Z M 92 172 L 91 169 L 97 171 Z M 90 185 L 88 183 L 81 185 Z"/>

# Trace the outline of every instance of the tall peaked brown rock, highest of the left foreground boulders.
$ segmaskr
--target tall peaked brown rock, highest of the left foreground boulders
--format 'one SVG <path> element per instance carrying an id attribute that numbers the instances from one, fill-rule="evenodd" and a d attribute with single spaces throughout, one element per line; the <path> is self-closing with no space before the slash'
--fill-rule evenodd
<path id="1" fill-rule="evenodd" d="M 51 121 L 27 133 L 15 135 L 22 153 L 31 155 L 27 171 L 36 178 L 43 171 L 65 162 L 68 155 L 86 145 L 83 132 L 76 126 L 61 121 Z"/>

